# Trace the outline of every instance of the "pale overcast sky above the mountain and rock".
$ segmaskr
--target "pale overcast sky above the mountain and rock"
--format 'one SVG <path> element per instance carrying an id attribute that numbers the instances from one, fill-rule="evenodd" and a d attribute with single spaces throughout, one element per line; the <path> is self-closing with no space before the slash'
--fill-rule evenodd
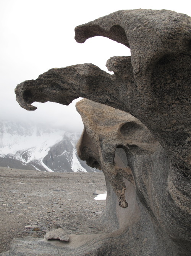
<path id="1" fill-rule="evenodd" d="M 111 56 L 128 56 L 124 45 L 100 36 L 84 44 L 74 40 L 75 26 L 118 10 L 168 9 L 191 16 L 188 0 L 0 0 L 0 120 L 44 122 L 81 131 L 73 101 L 70 106 L 35 102 L 36 111 L 15 100 L 18 83 L 36 79 L 50 68 L 93 63 L 107 71 Z"/>

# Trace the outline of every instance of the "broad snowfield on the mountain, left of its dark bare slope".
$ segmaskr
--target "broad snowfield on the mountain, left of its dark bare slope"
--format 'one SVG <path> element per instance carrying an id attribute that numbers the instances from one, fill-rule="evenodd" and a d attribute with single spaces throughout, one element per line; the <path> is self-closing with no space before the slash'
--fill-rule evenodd
<path id="1" fill-rule="evenodd" d="M 44 130 L 36 126 L 27 128 L 9 123 L 3 125 L 0 134 L 1 157 L 12 155 L 14 159 L 26 164 L 33 160 L 40 160 L 42 163 L 42 159 L 48 154 L 50 147 L 61 141 L 65 134 L 63 130 Z M 49 168 L 47 170 L 52 172 Z"/>

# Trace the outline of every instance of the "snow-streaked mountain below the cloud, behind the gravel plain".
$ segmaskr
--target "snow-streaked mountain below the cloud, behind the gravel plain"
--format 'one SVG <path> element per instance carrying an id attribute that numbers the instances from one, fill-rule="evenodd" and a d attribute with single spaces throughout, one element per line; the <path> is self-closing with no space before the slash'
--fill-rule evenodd
<path id="1" fill-rule="evenodd" d="M 0 122 L 0 166 L 49 172 L 95 172 L 79 159 L 80 134 L 42 125 Z"/>

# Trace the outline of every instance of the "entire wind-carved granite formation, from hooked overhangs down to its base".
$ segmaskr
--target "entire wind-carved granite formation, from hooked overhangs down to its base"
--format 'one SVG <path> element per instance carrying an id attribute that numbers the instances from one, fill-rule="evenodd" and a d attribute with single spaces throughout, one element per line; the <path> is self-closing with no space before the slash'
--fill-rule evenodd
<path id="1" fill-rule="evenodd" d="M 129 47 L 131 56 L 107 61 L 113 75 L 79 64 L 16 87 L 27 110 L 36 109 L 34 101 L 94 101 L 77 104 L 85 126 L 78 154 L 107 183 L 101 234 L 69 235 L 59 246 L 32 241 L 38 249 L 30 255 L 52 255 L 50 248 L 57 255 L 189 255 L 190 28 L 190 17 L 167 10 L 112 13 L 76 27 L 75 38 L 106 36 Z"/>

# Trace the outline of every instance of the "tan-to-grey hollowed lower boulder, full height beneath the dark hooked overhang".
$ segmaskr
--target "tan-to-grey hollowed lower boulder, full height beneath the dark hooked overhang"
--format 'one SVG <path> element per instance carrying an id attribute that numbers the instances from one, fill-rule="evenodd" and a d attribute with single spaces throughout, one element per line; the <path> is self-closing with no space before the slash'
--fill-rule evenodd
<path id="1" fill-rule="evenodd" d="M 87 99 L 76 108 L 84 123 L 78 155 L 103 170 L 107 223 L 118 225 L 117 244 L 125 236 L 118 255 L 189 254 L 189 180 L 184 193 L 183 181 L 175 187 L 178 170 L 167 150 L 131 114 Z"/>

